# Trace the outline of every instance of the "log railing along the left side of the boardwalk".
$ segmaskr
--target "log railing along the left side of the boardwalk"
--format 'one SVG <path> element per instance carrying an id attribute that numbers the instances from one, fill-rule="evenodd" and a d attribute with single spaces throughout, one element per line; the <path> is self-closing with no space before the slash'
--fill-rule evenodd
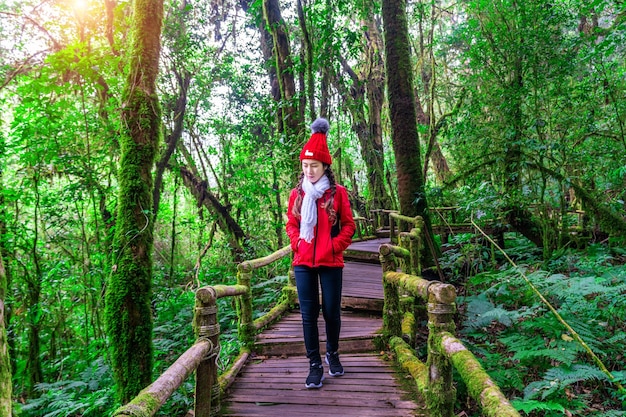
<path id="1" fill-rule="evenodd" d="M 291 247 L 286 246 L 264 258 L 240 263 L 237 266 L 236 285 L 199 288 L 196 291 L 193 320 L 196 342 L 156 381 L 142 390 L 130 403 L 118 408 L 113 417 L 153 416 L 194 371 L 194 416 L 218 416 L 221 397 L 247 361 L 255 335 L 293 307 L 297 299 L 295 278 L 290 270 L 288 284 L 283 287 L 279 302 L 265 315 L 252 320 L 252 275 L 255 270 L 290 253 Z M 220 326 L 217 319 L 217 300 L 222 297 L 235 297 L 239 340 L 243 342 L 243 348 L 230 368 L 218 376 Z"/>

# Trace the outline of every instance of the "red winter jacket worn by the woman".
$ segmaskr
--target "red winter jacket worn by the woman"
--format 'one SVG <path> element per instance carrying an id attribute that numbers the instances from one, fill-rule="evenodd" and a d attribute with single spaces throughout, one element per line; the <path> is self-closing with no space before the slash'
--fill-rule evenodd
<path id="1" fill-rule="evenodd" d="M 343 251 L 352 243 L 352 236 L 356 230 L 345 187 L 336 185 L 333 204 L 341 227 L 339 234 L 331 237 L 332 224 L 330 224 L 326 209 L 322 208 L 322 204 L 330 198 L 330 189 L 328 189 L 317 200 L 317 226 L 314 230 L 315 237 L 311 243 L 300 239 L 300 219 L 296 218 L 292 213 L 297 195 L 297 189 L 291 190 L 289 208 L 287 210 L 289 220 L 287 221 L 286 229 L 291 241 L 291 249 L 294 253 L 292 265 L 343 267 Z"/>

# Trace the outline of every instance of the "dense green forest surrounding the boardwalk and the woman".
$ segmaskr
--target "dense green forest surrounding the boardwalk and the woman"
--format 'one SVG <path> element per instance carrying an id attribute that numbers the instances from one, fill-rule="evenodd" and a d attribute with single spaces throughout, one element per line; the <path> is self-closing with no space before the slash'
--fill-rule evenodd
<path id="1" fill-rule="evenodd" d="M 616 0 L 0 0 L 0 415 L 108 415 L 165 369 L 194 289 L 286 245 L 318 116 L 355 214 L 499 231 L 430 255 L 521 413 L 626 415 L 624 45 Z"/>

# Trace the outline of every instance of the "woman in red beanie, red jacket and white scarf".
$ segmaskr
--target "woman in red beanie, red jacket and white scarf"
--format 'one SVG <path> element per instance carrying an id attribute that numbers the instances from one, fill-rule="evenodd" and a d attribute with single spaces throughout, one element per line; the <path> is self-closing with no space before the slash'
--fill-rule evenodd
<path id="1" fill-rule="evenodd" d="M 352 242 L 355 225 L 348 193 L 335 182 L 330 168 L 332 159 L 326 143 L 328 129 L 328 121 L 323 118 L 311 125 L 311 138 L 300 152 L 302 175 L 291 191 L 287 210 L 287 235 L 294 253 L 304 345 L 309 359 L 307 388 L 320 388 L 324 379 L 317 328 L 320 286 L 328 373 L 332 376 L 344 373 L 338 353 L 343 251 Z"/>

